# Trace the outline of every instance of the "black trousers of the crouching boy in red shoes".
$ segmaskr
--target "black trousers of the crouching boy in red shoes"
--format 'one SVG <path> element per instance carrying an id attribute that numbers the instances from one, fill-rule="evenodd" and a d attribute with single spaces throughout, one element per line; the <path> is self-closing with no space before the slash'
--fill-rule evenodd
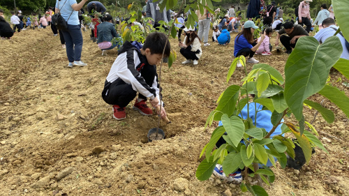
<path id="1" fill-rule="evenodd" d="M 144 81 L 151 86 L 154 82 L 154 77 L 156 77 L 156 66 L 145 65 L 142 70 L 140 70 L 140 74 L 144 78 Z M 126 84 L 126 82 L 120 78 L 112 83 L 105 80 L 102 98 L 107 104 L 126 107 L 136 95 L 137 91 L 132 89 L 132 85 Z M 147 100 L 147 98 L 140 93 L 138 94 L 138 98 Z"/>

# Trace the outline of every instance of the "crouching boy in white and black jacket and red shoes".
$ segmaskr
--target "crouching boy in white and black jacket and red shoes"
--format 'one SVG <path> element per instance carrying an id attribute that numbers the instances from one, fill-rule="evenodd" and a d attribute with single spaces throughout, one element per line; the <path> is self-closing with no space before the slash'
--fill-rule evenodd
<path id="1" fill-rule="evenodd" d="M 135 100 L 133 110 L 138 110 L 140 114 L 146 116 L 153 114 L 146 103 L 148 98 L 153 107 L 161 104 L 156 64 L 161 61 L 164 47 L 164 57 L 170 56 L 167 36 L 157 32 L 150 33 L 144 45 L 136 41 L 132 43 L 126 41 L 122 45 L 107 75 L 102 92 L 105 103 L 112 105 L 114 119 L 126 118 L 125 108 L 137 93 L 138 98 Z M 163 107 L 160 113 L 164 119 L 166 112 Z"/>

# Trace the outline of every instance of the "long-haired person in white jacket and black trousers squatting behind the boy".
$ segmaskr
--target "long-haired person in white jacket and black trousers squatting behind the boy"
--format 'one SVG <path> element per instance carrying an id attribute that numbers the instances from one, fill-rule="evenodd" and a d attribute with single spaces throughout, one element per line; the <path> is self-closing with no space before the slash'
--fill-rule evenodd
<path id="1" fill-rule="evenodd" d="M 183 43 L 179 42 L 178 44 L 181 47 L 179 52 L 186 58 L 186 61 L 182 62 L 182 64 L 193 63 L 193 65 L 198 65 L 198 60 L 202 54 L 200 38 L 196 34 L 195 29 L 185 28 L 184 32 L 186 32 L 186 37 Z"/>

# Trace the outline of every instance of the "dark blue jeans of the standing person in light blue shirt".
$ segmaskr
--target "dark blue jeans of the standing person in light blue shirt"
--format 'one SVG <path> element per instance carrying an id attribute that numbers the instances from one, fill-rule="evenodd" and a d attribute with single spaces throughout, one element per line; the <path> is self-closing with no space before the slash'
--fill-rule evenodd
<path id="1" fill-rule="evenodd" d="M 66 56 L 69 62 L 80 61 L 83 42 L 80 25 L 68 24 L 68 30 L 61 30 L 61 32 L 66 40 Z"/>

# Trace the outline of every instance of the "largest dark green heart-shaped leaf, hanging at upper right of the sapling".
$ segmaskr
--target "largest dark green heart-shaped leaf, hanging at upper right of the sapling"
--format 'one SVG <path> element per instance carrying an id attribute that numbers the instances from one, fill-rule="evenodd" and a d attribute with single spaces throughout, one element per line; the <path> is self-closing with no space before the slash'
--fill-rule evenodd
<path id="1" fill-rule="evenodd" d="M 322 45 L 310 36 L 297 41 L 285 65 L 284 96 L 298 121 L 302 119 L 303 101 L 325 86 L 329 69 L 342 52 L 343 47 L 337 36 L 327 38 Z"/>

